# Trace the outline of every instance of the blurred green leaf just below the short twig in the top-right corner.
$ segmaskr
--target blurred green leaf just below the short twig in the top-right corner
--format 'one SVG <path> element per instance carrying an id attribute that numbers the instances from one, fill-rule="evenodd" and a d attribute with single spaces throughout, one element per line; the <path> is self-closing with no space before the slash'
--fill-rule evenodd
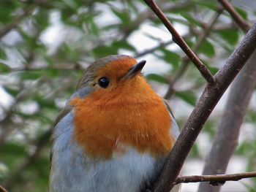
<path id="1" fill-rule="evenodd" d="M 236 45 L 239 39 L 238 30 L 227 29 L 225 31 L 217 31 L 217 34 L 230 45 Z"/>

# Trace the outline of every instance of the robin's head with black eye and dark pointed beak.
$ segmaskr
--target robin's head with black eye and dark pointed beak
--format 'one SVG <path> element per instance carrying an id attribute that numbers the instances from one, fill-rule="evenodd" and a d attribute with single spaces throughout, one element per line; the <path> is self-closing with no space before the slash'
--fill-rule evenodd
<path id="1" fill-rule="evenodd" d="M 130 92 L 141 83 L 146 83 L 140 72 L 146 61 L 137 62 L 127 55 L 110 55 L 91 64 L 78 83 L 78 89 L 92 88 L 96 93 L 113 93 L 113 91 Z"/>

